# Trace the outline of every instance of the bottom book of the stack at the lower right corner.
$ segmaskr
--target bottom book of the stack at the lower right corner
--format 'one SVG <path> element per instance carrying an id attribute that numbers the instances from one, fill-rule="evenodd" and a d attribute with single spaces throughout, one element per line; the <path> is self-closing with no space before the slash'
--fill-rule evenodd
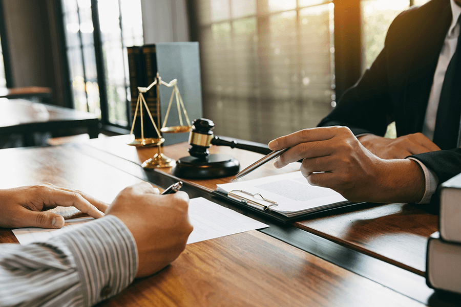
<path id="1" fill-rule="evenodd" d="M 461 244 L 433 233 L 427 243 L 426 282 L 430 288 L 461 294 Z"/>

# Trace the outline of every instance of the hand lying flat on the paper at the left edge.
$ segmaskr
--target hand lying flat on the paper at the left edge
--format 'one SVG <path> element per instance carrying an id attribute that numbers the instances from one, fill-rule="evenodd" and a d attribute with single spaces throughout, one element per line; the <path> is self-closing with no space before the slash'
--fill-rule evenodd
<path id="1" fill-rule="evenodd" d="M 61 228 L 64 217 L 44 210 L 74 206 L 95 218 L 104 216 L 108 204 L 83 192 L 52 184 L 0 190 L 0 227 Z"/>

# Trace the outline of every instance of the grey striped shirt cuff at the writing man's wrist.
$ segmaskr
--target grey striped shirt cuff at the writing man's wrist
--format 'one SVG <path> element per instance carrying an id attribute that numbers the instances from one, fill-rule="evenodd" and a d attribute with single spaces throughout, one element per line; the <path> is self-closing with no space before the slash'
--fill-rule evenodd
<path id="1" fill-rule="evenodd" d="M 84 306 L 116 295 L 134 280 L 138 267 L 136 242 L 116 216 L 86 223 L 57 239 L 73 254 Z"/>

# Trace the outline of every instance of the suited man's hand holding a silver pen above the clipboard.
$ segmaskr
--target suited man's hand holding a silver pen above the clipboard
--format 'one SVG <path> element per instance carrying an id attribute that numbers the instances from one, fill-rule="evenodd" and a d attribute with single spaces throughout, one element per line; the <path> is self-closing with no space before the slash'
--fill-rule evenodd
<path id="1" fill-rule="evenodd" d="M 347 127 L 304 129 L 269 143 L 272 150 L 287 147 L 275 167 L 304 158 L 301 172 L 310 184 L 336 190 L 350 201 L 419 202 L 423 198 L 424 172 L 416 162 L 376 157 Z"/>

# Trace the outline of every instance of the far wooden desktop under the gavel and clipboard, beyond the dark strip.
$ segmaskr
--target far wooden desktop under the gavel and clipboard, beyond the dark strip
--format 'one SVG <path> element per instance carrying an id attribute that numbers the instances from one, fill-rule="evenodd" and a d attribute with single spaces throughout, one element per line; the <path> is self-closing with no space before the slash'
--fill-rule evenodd
<path id="1" fill-rule="evenodd" d="M 141 164 L 151 158 L 156 148 L 136 148 L 125 145 L 128 136 L 90 140 L 88 144 L 113 155 Z M 188 156 L 187 143 L 165 146 L 163 152 L 175 160 Z M 262 157 L 261 154 L 225 146 L 212 146 L 212 153 L 227 153 L 240 161 L 241 168 Z M 245 178 L 248 180 L 299 169 L 294 163 L 283 169 L 275 169 L 271 163 L 259 168 Z M 158 169 L 168 176 L 171 169 Z M 228 183 L 232 177 L 183 181 L 205 191 L 213 191 L 216 184 Z M 349 207 L 313 216 L 311 219 L 295 223 L 308 232 L 358 250 L 395 266 L 404 268 L 421 276 L 426 269 L 427 238 L 438 228 L 438 217 L 424 210 L 424 205 L 413 204 L 366 204 Z M 340 212 L 340 213 L 338 213 Z"/>

